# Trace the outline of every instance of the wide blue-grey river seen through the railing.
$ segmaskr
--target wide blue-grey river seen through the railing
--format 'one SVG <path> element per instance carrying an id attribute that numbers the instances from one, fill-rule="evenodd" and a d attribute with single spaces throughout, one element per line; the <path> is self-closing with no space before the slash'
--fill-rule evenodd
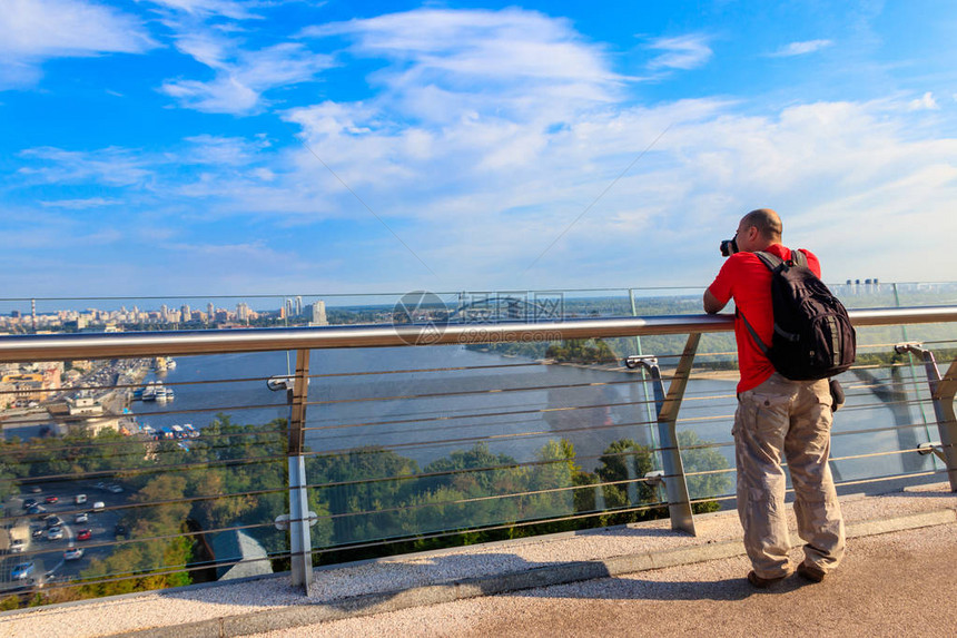
<path id="1" fill-rule="evenodd" d="M 241 424 L 285 419 L 285 393 L 270 391 L 265 379 L 295 369 L 295 355 L 289 356 L 288 362 L 285 352 L 177 357 L 176 367 L 158 376 L 176 391 L 175 400 L 137 402 L 132 410 L 140 425 L 156 429 L 186 422 L 201 429 L 218 412 Z M 306 443 L 316 452 L 386 446 L 424 467 L 484 443 L 493 453 L 529 462 L 549 440 L 564 438 L 574 445 L 579 464 L 592 470 L 615 440 L 653 444 L 657 439 L 648 425 L 644 389 L 631 372 L 431 346 L 314 351 L 310 374 Z M 912 449 L 927 440 L 926 432 L 936 436 L 936 426 L 910 428 L 902 435 L 872 432 L 896 420 L 919 423 L 919 409 L 895 413 L 868 384 L 850 373 L 842 379 L 849 400 L 836 415 L 832 457 Z M 692 379 L 679 431 L 693 430 L 706 441 L 724 444 L 718 449 L 733 467 L 727 443 L 734 406 L 733 381 Z M 854 433 L 859 430 L 868 432 Z M 929 458 L 907 457 L 848 459 L 835 470 L 852 480 L 929 468 Z"/>

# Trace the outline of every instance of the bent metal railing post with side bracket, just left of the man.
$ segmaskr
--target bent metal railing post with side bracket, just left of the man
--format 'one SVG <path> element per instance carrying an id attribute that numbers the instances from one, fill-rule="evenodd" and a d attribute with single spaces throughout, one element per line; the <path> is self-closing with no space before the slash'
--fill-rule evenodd
<path id="1" fill-rule="evenodd" d="M 698 352 L 698 343 L 701 333 L 688 335 L 684 352 L 674 370 L 674 377 L 668 386 L 668 394 L 663 395 L 661 383 L 661 371 L 658 360 L 654 357 L 633 357 L 627 362 L 629 367 L 641 365 L 648 369 L 655 387 L 658 400 L 658 440 L 661 442 L 661 462 L 664 469 L 664 490 L 668 494 L 668 513 L 671 518 L 671 529 L 682 530 L 691 536 L 698 536 L 694 530 L 694 517 L 691 510 L 691 498 L 688 494 L 688 482 L 684 477 L 684 464 L 681 462 L 681 449 L 678 445 L 678 412 L 681 401 L 684 399 L 684 390 L 688 387 L 688 377 L 691 375 L 691 363 Z"/>

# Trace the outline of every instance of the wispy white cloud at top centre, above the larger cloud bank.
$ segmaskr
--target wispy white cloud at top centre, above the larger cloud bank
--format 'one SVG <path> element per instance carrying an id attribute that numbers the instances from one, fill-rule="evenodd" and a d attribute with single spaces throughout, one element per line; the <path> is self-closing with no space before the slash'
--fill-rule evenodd
<path id="1" fill-rule="evenodd" d="M 610 102 L 625 81 L 602 47 L 584 41 L 570 22 L 519 9 L 422 9 L 312 27 L 304 36 L 344 36 L 353 55 L 388 60 L 369 77 L 386 91 L 382 99 L 402 110 L 428 108 L 443 120 L 470 110 L 553 110 L 550 101 Z"/>

